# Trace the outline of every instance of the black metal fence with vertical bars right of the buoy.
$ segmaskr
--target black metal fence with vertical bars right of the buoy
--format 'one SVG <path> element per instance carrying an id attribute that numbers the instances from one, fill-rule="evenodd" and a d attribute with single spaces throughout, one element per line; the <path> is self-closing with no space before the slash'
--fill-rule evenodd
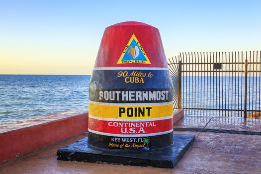
<path id="1" fill-rule="evenodd" d="M 169 59 L 169 69 L 174 107 L 186 115 L 247 117 L 261 111 L 261 51 L 180 53 Z"/>

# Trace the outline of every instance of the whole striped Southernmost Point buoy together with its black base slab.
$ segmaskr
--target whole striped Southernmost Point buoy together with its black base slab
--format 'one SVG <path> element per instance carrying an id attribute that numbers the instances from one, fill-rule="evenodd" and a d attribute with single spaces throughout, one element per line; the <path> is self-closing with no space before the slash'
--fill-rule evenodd
<path id="1" fill-rule="evenodd" d="M 173 86 L 159 30 L 105 29 L 89 83 L 88 137 L 58 160 L 173 168 L 193 135 L 173 134 Z"/>

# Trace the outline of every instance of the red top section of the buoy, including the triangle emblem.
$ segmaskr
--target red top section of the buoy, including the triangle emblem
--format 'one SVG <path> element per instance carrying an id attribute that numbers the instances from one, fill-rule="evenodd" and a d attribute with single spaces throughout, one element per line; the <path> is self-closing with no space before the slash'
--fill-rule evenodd
<path id="1" fill-rule="evenodd" d="M 107 27 L 95 62 L 98 67 L 168 68 L 159 30 L 135 21 Z"/>

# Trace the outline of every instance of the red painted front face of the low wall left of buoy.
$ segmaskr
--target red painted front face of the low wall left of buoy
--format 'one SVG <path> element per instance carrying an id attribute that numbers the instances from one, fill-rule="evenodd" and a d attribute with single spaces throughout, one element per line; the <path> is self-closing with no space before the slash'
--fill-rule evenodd
<path id="1" fill-rule="evenodd" d="M 42 149 L 88 130 L 88 114 L 0 133 L 0 163 Z"/>

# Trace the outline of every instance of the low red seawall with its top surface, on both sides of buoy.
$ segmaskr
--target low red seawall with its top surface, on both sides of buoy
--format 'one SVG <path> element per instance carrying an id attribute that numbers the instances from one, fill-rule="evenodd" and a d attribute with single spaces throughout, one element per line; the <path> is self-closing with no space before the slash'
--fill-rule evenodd
<path id="1" fill-rule="evenodd" d="M 182 116 L 183 109 L 175 109 L 174 123 Z M 88 113 L 60 113 L 2 123 L 0 164 L 87 131 Z"/>

